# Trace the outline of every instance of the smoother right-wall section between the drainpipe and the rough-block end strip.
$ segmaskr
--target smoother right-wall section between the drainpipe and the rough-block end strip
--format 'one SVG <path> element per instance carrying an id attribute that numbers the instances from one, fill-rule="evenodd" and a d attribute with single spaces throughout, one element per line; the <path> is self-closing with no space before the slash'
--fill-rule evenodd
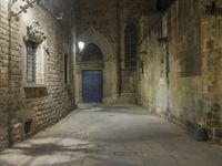
<path id="1" fill-rule="evenodd" d="M 204 117 L 200 86 L 200 6 L 198 1 L 176 1 L 167 17 L 167 35 L 170 38 L 169 107 L 172 118 L 183 124 L 198 124 Z"/>

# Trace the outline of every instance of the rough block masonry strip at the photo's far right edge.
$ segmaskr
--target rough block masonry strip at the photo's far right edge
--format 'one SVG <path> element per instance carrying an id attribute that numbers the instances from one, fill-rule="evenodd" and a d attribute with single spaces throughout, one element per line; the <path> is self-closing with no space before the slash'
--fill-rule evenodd
<path id="1" fill-rule="evenodd" d="M 222 138 L 222 14 L 203 15 L 201 25 L 203 110 L 211 135 Z"/>

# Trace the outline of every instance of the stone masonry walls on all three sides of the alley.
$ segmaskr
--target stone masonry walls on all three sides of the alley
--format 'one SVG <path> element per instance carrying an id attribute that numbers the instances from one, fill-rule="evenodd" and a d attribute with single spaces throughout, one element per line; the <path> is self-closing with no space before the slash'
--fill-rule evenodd
<path id="1" fill-rule="evenodd" d="M 164 10 L 158 2 L 40 0 L 10 19 L 9 1 L 0 0 L 0 149 L 60 121 L 75 100 L 81 103 L 84 70 L 103 72 L 103 103 L 138 103 L 220 141 L 222 2 L 169 0 Z M 131 23 L 138 31 L 133 70 L 125 66 Z M 41 84 L 27 79 L 31 38 L 41 48 L 34 64 Z M 98 46 L 102 58 L 83 62 L 78 41 Z"/>

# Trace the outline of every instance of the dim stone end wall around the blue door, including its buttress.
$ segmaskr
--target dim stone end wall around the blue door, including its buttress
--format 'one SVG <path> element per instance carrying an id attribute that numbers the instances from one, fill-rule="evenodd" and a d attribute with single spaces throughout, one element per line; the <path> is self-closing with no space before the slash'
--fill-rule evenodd
<path id="1" fill-rule="evenodd" d="M 155 0 L 82 0 L 75 1 L 74 7 L 77 40 L 97 44 L 103 54 L 103 102 L 134 103 L 135 72 L 124 69 L 124 29 L 129 22 L 137 23 L 142 13 L 154 12 Z M 81 68 L 81 63 L 77 60 L 78 102 L 82 101 L 82 70 L 92 70 L 91 66 Z"/>

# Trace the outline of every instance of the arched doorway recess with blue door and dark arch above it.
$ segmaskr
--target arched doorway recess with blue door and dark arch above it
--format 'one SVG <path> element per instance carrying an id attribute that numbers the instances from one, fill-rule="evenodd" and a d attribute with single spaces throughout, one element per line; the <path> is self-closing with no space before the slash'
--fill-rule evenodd
<path id="1" fill-rule="evenodd" d="M 103 97 L 103 55 L 98 45 L 90 43 L 81 56 L 82 63 L 82 101 L 100 103 Z"/>

